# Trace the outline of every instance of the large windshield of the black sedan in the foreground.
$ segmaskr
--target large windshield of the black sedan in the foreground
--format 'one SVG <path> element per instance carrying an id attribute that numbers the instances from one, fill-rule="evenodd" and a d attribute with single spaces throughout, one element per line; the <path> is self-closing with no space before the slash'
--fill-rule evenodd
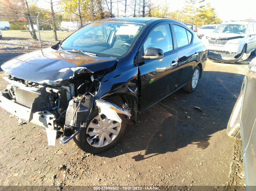
<path id="1" fill-rule="evenodd" d="M 63 50 L 81 50 L 100 57 L 124 55 L 144 25 L 121 22 L 92 22 L 61 43 Z"/>

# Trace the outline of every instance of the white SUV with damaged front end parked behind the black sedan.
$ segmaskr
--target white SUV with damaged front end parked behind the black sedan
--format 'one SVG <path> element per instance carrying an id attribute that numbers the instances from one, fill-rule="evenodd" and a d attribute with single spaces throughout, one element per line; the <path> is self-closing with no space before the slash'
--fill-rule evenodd
<path id="1" fill-rule="evenodd" d="M 255 54 L 256 23 L 226 22 L 202 38 L 208 57 L 216 62 L 237 62 L 244 53 Z"/>

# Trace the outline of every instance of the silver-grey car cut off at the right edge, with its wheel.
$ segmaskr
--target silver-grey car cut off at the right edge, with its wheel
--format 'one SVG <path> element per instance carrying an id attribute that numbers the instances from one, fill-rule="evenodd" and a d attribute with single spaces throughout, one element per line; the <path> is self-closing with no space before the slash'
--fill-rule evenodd
<path id="1" fill-rule="evenodd" d="M 256 58 L 249 64 L 241 93 L 228 121 L 227 133 L 242 139 L 246 186 L 256 186 Z M 251 188 L 254 189 L 255 187 Z M 250 190 L 250 187 L 247 188 Z"/>

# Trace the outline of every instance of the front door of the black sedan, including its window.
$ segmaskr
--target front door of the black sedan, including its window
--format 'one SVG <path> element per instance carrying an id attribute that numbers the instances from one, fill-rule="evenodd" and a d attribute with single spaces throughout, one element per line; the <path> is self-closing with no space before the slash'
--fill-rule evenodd
<path id="1" fill-rule="evenodd" d="M 178 51 L 173 46 L 169 23 L 161 23 L 151 28 L 139 55 L 144 55 L 148 47 L 163 49 L 164 57 L 158 60 L 138 58 L 141 78 L 140 112 L 171 94 L 176 88 L 179 77 Z"/>

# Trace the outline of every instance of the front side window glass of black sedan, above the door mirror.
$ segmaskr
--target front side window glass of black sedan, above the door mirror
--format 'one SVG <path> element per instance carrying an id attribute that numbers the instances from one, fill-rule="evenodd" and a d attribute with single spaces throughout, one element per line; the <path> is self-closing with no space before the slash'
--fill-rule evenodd
<path id="1" fill-rule="evenodd" d="M 143 46 L 144 52 L 149 47 L 161 48 L 164 53 L 173 50 L 170 25 L 162 24 L 155 27 Z"/>

